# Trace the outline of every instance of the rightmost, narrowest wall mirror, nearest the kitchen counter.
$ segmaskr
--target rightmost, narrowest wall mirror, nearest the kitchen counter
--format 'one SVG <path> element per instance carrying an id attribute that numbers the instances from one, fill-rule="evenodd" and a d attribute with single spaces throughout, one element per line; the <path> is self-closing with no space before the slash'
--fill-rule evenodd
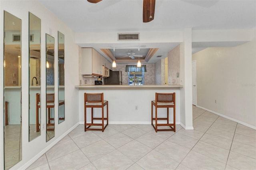
<path id="1" fill-rule="evenodd" d="M 65 81 L 64 81 L 64 34 L 58 31 L 58 100 L 59 124 L 65 120 Z"/>

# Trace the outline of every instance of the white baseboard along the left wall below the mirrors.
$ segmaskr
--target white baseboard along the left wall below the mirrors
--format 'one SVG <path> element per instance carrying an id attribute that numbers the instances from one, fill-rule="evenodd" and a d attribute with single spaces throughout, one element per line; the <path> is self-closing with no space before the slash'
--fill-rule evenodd
<path id="1" fill-rule="evenodd" d="M 33 164 L 36 160 L 38 160 L 38 158 L 40 158 L 44 153 L 46 153 L 48 150 L 50 150 L 50 148 L 52 148 L 55 144 L 57 144 L 60 140 L 62 140 L 62 138 L 64 138 L 72 130 L 74 130 L 74 128 L 76 128 L 76 126 L 78 126 L 78 125 L 79 125 L 79 123 L 76 123 L 74 126 L 72 126 L 64 134 L 62 134 L 60 137 L 58 137 L 56 140 L 54 140 L 54 142 L 52 142 L 50 145 L 48 145 L 46 148 L 44 148 L 41 152 L 39 152 L 36 156 L 34 156 L 32 159 L 30 159 L 28 162 L 26 162 L 26 164 L 21 166 L 19 169 L 25 170 L 26 168 L 28 168 L 31 164 Z"/>

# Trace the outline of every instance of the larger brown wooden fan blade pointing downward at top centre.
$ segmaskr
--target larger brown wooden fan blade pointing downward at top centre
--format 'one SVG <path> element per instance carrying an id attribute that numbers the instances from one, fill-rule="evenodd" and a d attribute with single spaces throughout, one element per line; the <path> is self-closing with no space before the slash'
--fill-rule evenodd
<path id="1" fill-rule="evenodd" d="M 143 22 L 150 22 L 154 20 L 155 5 L 156 0 L 143 0 Z"/>

